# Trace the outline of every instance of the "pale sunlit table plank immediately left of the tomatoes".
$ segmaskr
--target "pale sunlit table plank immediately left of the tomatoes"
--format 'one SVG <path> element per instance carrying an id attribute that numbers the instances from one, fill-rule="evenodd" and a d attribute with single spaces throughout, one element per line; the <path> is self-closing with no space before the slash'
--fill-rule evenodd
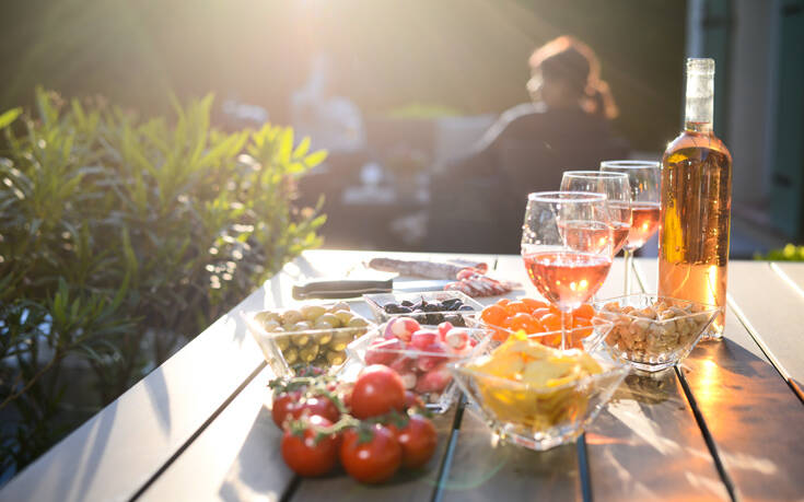
<path id="1" fill-rule="evenodd" d="M 265 367 L 142 494 L 141 500 L 279 500 L 293 472 L 271 419 Z"/>

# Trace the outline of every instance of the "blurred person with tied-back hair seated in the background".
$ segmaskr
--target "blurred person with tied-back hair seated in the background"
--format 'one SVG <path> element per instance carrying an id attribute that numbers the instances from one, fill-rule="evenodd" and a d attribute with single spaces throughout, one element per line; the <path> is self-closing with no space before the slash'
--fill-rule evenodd
<path id="1" fill-rule="evenodd" d="M 558 190 L 564 171 L 627 156 L 610 127 L 617 106 L 587 45 L 560 36 L 528 63 L 532 102 L 505 110 L 470 154 L 433 182 L 432 250 L 518 253 L 528 192 Z"/>

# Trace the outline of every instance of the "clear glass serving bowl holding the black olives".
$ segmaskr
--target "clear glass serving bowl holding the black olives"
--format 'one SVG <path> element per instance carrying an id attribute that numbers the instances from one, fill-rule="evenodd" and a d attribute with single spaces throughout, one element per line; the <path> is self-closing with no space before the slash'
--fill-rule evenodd
<path id="1" fill-rule="evenodd" d="M 378 293 L 378 294 L 364 294 L 363 300 L 369 304 L 374 318 L 377 323 L 386 323 L 394 317 L 412 317 L 422 325 L 434 326 L 444 322 L 450 322 L 454 326 L 463 327 L 467 326 L 469 319 L 477 317 L 483 306 L 473 300 L 470 296 L 462 293 L 461 291 L 427 291 L 420 293 Z M 404 306 L 404 304 L 417 305 L 421 302 L 427 304 L 433 304 L 435 302 L 452 303 L 456 304 L 459 301 L 459 310 L 452 308 L 434 308 L 427 312 L 396 312 L 392 310 L 388 312 L 386 307 L 391 304 Z"/>

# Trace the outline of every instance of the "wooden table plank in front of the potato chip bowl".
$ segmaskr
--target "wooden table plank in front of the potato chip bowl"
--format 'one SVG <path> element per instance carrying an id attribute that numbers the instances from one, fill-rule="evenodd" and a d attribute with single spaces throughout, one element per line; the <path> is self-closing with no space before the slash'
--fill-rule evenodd
<path id="1" fill-rule="evenodd" d="M 471 407 L 461 421 L 444 501 L 581 500 L 574 444 L 547 452 L 496 444 Z"/>

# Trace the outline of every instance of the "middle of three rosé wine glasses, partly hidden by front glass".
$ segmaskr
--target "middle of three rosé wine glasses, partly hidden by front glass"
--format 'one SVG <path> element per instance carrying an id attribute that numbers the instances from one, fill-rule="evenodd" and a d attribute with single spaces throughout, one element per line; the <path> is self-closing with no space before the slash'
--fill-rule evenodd
<path id="1" fill-rule="evenodd" d="M 626 244 L 631 229 L 631 186 L 628 184 L 628 175 L 601 171 L 564 171 L 561 190 L 606 195 L 616 256 Z"/>

